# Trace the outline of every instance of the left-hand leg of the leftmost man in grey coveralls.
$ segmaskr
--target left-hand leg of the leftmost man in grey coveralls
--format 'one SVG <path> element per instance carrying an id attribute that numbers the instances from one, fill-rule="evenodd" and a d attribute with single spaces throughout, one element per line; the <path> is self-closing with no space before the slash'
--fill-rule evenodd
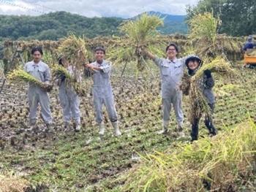
<path id="1" fill-rule="evenodd" d="M 37 107 L 39 102 L 39 96 L 34 89 L 29 89 L 29 123 L 34 127 L 37 123 Z"/>

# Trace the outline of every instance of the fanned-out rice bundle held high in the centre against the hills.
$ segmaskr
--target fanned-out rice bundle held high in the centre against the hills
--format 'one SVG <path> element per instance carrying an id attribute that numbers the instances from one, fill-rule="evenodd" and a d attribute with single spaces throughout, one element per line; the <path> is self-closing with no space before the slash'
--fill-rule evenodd
<path id="1" fill-rule="evenodd" d="M 157 40 L 159 32 L 157 28 L 163 26 L 163 20 L 156 15 L 143 14 L 136 20 L 129 20 L 121 24 L 120 31 L 126 37 L 120 39 L 118 45 L 110 48 L 110 60 L 115 63 L 137 62 L 138 70 L 146 68 L 147 58 L 143 55 L 140 47 L 148 47 L 152 53 L 162 53 L 161 44 Z M 162 54 L 161 54 L 162 55 Z"/>

